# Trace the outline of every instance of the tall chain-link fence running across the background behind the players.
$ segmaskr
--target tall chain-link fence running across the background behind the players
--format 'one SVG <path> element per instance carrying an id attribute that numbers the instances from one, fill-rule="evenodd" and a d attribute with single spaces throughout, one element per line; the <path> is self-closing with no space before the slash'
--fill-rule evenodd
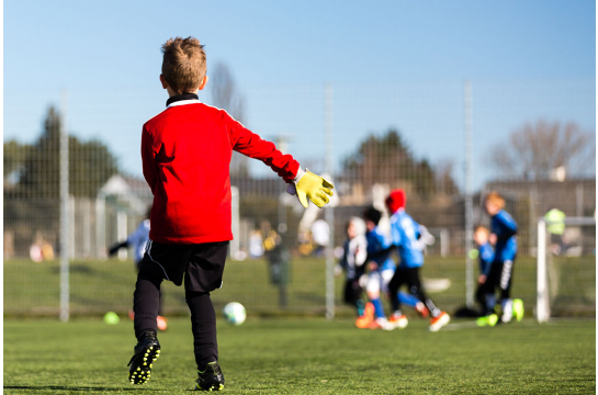
<path id="1" fill-rule="evenodd" d="M 538 218 L 555 207 L 567 216 L 595 215 L 595 174 L 587 170 L 595 168 L 595 153 L 587 149 L 595 134 L 594 87 L 594 80 L 473 83 L 470 224 L 461 170 L 462 83 L 250 89 L 247 126 L 303 167 L 331 173 L 339 199 L 334 207 L 304 210 L 266 166 L 236 155 L 230 177 L 235 241 L 224 286 L 213 294 L 216 305 L 237 301 L 250 314 L 324 314 L 330 246 L 342 245 L 352 216 L 370 205 L 383 211 L 388 192 L 402 188 L 406 211 L 435 236 L 422 274 L 431 296 L 449 312 L 467 302 L 469 291 L 473 294 L 466 283 L 466 230 L 489 223 L 483 198 L 490 190 L 501 193 L 519 224 L 512 294 L 533 307 Z M 131 308 L 132 251 L 109 257 L 108 250 L 144 221 L 151 193 L 140 159 L 117 157 L 112 147 L 132 145 L 137 155 L 140 125 L 156 105 L 137 102 L 119 112 L 108 98 L 86 102 L 77 91 L 69 97 L 69 120 L 80 128 L 97 125 L 103 137 L 87 139 L 81 136 L 91 133 L 75 132 L 69 137 L 68 251 L 60 250 L 60 111 L 48 110 L 42 132 L 25 142 L 13 128 L 26 103 L 5 100 L 4 314 L 58 315 L 58 258 L 64 256 L 71 314 Z M 163 101 L 156 92 L 147 97 Z M 108 109 L 114 119 L 94 109 Z M 582 255 L 594 257 L 595 249 Z M 335 305 L 337 313 L 349 314 L 342 286 L 343 278 L 336 278 Z M 182 290 L 166 284 L 163 293 L 165 314 L 187 312 Z"/>

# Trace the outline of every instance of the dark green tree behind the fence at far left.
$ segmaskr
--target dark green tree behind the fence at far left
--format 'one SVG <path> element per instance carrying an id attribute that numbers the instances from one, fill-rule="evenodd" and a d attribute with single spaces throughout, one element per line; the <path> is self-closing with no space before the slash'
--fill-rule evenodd
<path id="1" fill-rule="evenodd" d="M 37 232 L 56 242 L 60 213 L 60 117 L 50 108 L 35 144 L 4 143 L 4 233 L 26 255 Z M 8 154 L 8 155 L 7 155 Z M 8 169 L 7 169 L 8 166 Z M 69 193 L 94 198 L 117 172 L 116 158 L 98 140 L 69 136 Z M 7 182 L 8 181 L 8 182 Z"/>

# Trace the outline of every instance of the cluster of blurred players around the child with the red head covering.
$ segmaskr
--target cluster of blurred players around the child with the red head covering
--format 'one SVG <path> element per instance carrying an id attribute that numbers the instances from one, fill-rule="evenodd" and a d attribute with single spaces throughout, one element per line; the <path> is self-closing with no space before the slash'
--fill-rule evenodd
<path id="1" fill-rule="evenodd" d="M 386 198 L 391 214 L 391 233 L 384 234 L 379 227 L 382 213 L 374 207 L 365 210 L 363 219 L 353 217 L 347 226 L 348 240 L 340 266 L 346 270 L 345 301 L 356 307 L 358 328 L 403 329 L 407 317 L 400 305 L 414 307 L 422 317 L 430 316 L 431 331 L 438 331 L 449 324 L 450 316 L 438 308 L 426 295 L 421 285 L 420 268 L 424 266 L 424 249 L 431 236 L 406 212 L 406 195 L 402 189 L 394 190 Z M 398 266 L 392 252 L 397 250 Z M 399 292 L 406 284 L 408 293 Z M 370 302 L 364 304 L 363 287 Z M 387 294 L 392 313 L 384 313 L 381 295 Z"/>

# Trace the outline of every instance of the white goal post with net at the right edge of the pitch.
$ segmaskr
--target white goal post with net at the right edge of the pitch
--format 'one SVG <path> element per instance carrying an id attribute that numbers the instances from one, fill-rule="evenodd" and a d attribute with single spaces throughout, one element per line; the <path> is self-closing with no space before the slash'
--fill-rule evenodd
<path id="1" fill-rule="evenodd" d="M 557 268 L 556 263 L 554 262 L 554 251 L 552 251 L 549 248 L 549 245 L 551 240 L 549 240 L 551 233 L 550 226 L 551 225 L 561 225 L 563 229 L 572 228 L 572 227 L 594 227 L 594 246 L 588 251 L 587 246 L 582 240 L 579 241 L 578 246 L 572 247 L 571 253 L 563 251 L 563 257 L 566 257 L 569 260 L 577 261 L 579 264 L 583 264 L 584 262 L 584 255 L 591 256 L 594 268 L 593 272 L 596 273 L 596 266 L 595 266 L 595 255 L 596 255 L 596 239 L 595 239 L 595 228 L 596 228 L 596 218 L 594 217 L 568 217 L 563 218 L 558 222 L 551 222 L 546 221 L 545 218 L 540 218 L 538 221 L 538 249 L 537 249 L 537 305 L 535 305 L 535 318 L 539 323 L 545 323 L 550 319 L 552 315 L 552 304 L 553 301 L 555 301 L 557 297 L 561 296 L 560 292 L 568 292 L 574 293 L 574 295 L 567 294 L 566 296 L 563 296 L 562 298 L 567 301 L 576 298 L 576 296 L 583 297 L 583 284 L 579 283 L 580 280 L 587 280 L 588 284 L 589 281 L 593 282 L 593 285 L 595 286 L 595 275 L 593 279 L 587 279 L 587 276 L 584 276 L 583 273 L 575 272 L 574 270 L 567 270 L 571 268 Z M 583 234 L 583 233 L 580 233 Z M 555 246 L 560 248 L 558 246 Z M 552 266 L 552 268 L 551 268 Z M 551 270 L 552 269 L 552 270 Z M 558 290 L 557 283 L 560 282 L 560 279 L 562 278 L 561 272 L 567 271 L 566 276 L 574 278 L 577 275 L 578 282 L 575 283 L 575 286 L 568 286 L 566 291 Z M 574 279 L 575 282 L 575 279 Z M 577 293 L 577 294 L 575 294 Z M 589 292 L 595 293 L 595 289 Z M 579 298 L 577 297 L 577 298 Z M 594 300 L 594 309 L 595 309 L 595 300 Z"/>

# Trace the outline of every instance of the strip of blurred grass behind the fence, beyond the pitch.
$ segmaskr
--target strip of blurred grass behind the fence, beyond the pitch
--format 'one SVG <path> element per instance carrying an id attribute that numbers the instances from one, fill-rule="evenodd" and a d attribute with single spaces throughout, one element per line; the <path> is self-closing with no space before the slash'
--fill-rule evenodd
<path id="1" fill-rule="evenodd" d="M 561 262 L 555 285 L 567 296 L 560 300 L 560 314 L 594 316 L 596 305 L 595 257 L 571 258 Z M 7 260 L 4 272 L 4 316 L 58 316 L 59 263 L 34 263 L 30 260 Z M 462 257 L 430 257 L 422 269 L 425 279 L 448 279 L 450 286 L 429 292 L 436 303 L 452 313 L 465 303 L 465 260 Z M 287 306 L 279 307 L 279 287 L 270 283 L 269 266 L 264 260 L 228 260 L 224 286 L 213 293 L 219 311 L 228 302 L 240 302 L 250 315 L 324 315 L 324 259 L 296 258 L 291 262 Z M 126 314 L 131 308 L 135 270 L 133 262 L 117 260 L 74 260 L 70 262 L 70 309 L 74 315 L 103 315 L 109 311 Z M 336 279 L 337 314 L 351 315 L 342 306 L 343 278 Z M 163 283 L 165 313 L 187 314 L 184 292 Z M 512 295 L 527 306 L 535 304 L 535 260 L 521 257 L 515 267 Z M 557 307 L 555 304 L 554 307 Z M 528 308 L 531 317 L 532 309 Z"/>

